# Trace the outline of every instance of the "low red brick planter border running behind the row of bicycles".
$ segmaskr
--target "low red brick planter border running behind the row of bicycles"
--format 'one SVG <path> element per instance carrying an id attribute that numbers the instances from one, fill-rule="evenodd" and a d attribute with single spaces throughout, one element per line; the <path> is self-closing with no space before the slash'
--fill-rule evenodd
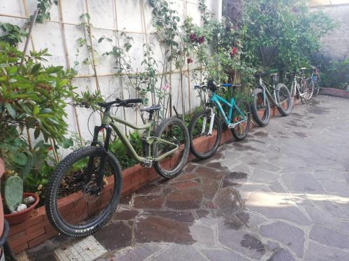
<path id="1" fill-rule="evenodd" d="M 298 102 L 299 101 L 296 101 L 295 104 Z M 278 115 L 279 111 L 276 109 L 276 107 L 272 107 L 270 116 L 275 117 Z M 255 127 L 255 125 L 252 123 L 251 127 Z M 232 133 L 228 129 L 222 134 L 221 144 L 231 141 L 232 139 Z M 196 139 L 195 142 L 205 143 L 207 142 L 207 138 L 199 138 Z M 189 155 L 188 160 L 191 161 L 194 158 L 195 156 L 191 154 Z M 125 195 L 140 189 L 140 187 L 144 186 L 144 184 L 156 180 L 158 175 L 156 174 L 154 168 L 144 168 L 138 164 L 124 170 L 123 178 L 124 186 L 122 189 L 122 194 Z M 104 195 L 102 195 L 105 198 L 108 197 L 108 194 L 110 195 L 112 184 L 109 184 L 108 187 L 109 189 L 106 189 L 104 191 Z M 74 194 L 66 198 L 62 198 L 61 202 L 59 203 L 60 207 L 66 207 L 68 213 L 71 205 L 77 201 L 77 198 L 78 196 Z M 47 239 L 50 239 L 57 234 L 57 231 L 54 230 L 47 219 L 45 207 L 39 207 L 38 209 L 34 210 L 34 214 L 32 214 L 32 216 L 26 221 L 16 225 L 11 225 L 8 242 L 10 242 L 10 246 L 13 248 L 15 253 L 20 253 L 27 248 L 32 248 L 45 242 Z"/>

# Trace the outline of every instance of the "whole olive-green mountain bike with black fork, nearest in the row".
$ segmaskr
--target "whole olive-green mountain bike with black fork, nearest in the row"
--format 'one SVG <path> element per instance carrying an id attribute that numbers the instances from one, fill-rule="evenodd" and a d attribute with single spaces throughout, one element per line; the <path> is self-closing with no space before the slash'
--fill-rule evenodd
<path id="1" fill-rule="evenodd" d="M 100 126 L 94 128 L 94 139 L 89 147 L 71 152 L 57 166 L 46 189 L 45 209 L 54 228 L 70 237 L 84 237 L 102 228 L 119 203 L 122 175 L 117 158 L 108 151 L 112 129 L 131 156 L 147 168 L 154 166 L 165 178 L 181 173 L 189 153 L 189 134 L 179 118 L 166 118 L 157 127 L 153 119 L 160 105 L 142 109 L 149 113 L 149 120 L 142 126 L 112 116 L 112 107 L 132 107 L 142 99 L 115 100 L 98 104 L 103 109 Z M 138 155 L 122 132 L 122 125 L 144 129 L 143 155 Z M 98 141 L 98 134 L 105 129 L 105 141 Z M 151 133 L 155 129 L 153 136 Z M 73 200 L 75 198 L 75 200 Z M 68 200 L 68 201 L 67 201 Z M 64 202 L 71 201 L 70 207 Z"/>

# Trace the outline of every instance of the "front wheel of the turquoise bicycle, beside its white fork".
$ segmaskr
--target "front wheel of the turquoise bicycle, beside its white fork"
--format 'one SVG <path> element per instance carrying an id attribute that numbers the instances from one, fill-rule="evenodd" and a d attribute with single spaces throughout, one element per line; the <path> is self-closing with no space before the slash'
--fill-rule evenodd
<path id="1" fill-rule="evenodd" d="M 199 159 L 212 157 L 221 143 L 221 121 L 218 115 L 211 117 L 211 109 L 195 113 L 189 124 L 188 132 L 191 141 L 191 153 Z M 194 141 L 194 139 L 197 140 Z"/>

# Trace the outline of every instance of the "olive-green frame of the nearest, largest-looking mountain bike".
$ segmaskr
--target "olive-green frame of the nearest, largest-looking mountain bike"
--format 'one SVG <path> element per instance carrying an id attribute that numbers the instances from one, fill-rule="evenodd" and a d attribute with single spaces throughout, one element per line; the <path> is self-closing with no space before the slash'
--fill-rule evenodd
<path id="1" fill-rule="evenodd" d="M 147 144 L 147 151 L 146 151 L 146 155 L 145 155 L 146 157 L 142 157 L 142 156 L 138 155 L 138 153 L 135 151 L 135 149 L 131 145 L 130 141 L 128 141 L 127 136 L 121 130 L 121 127 L 119 127 L 117 125 L 117 122 L 119 122 L 123 125 L 126 125 L 128 127 L 131 127 L 132 129 L 145 129 L 146 134 L 144 136 L 144 142 Z M 101 129 L 106 129 L 107 136 L 106 136 L 105 145 L 104 145 L 104 148 L 106 151 L 107 151 L 107 147 L 110 143 L 111 129 L 110 129 L 109 125 L 112 127 L 112 129 L 114 129 L 114 132 L 116 132 L 117 136 L 119 137 L 121 142 L 124 144 L 126 150 L 128 150 L 128 152 L 131 153 L 133 159 L 135 159 L 136 161 L 138 161 L 140 163 L 144 163 L 144 164 L 148 165 L 149 162 L 152 163 L 154 161 L 161 161 L 161 160 L 165 159 L 165 157 L 168 157 L 169 155 L 174 153 L 179 148 L 179 145 L 177 145 L 177 144 L 170 143 L 169 141 L 165 141 L 164 139 L 161 139 L 159 137 L 150 136 L 151 129 L 153 129 L 153 127 L 154 127 L 154 120 L 149 120 L 149 122 L 147 122 L 147 124 L 145 124 L 145 125 L 137 126 L 137 125 L 133 125 L 131 122 L 127 122 L 126 120 L 121 120 L 120 118 L 117 118 L 115 116 L 111 116 L 109 112 L 106 112 L 103 114 L 102 125 L 99 127 L 95 127 L 94 141 L 93 141 L 93 143 L 96 143 L 97 139 L 98 139 L 98 132 Z M 168 152 L 165 152 L 163 155 L 155 157 L 154 150 L 156 148 L 157 143 L 165 143 L 168 145 L 172 145 L 172 146 L 174 146 L 174 149 L 170 150 Z M 153 149 L 151 149 L 151 148 L 153 148 Z"/>

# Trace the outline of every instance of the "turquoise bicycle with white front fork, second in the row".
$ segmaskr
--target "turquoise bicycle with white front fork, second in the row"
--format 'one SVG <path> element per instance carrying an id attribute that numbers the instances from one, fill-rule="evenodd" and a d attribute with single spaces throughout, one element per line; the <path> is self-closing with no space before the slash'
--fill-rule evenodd
<path id="1" fill-rule="evenodd" d="M 195 89 L 209 94 L 209 102 L 204 103 L 204 110 L 195 113 L 188 127 L 190 148 L 195 157 L 208 159 L 214 155 L 221 143 L 222 122 L 225 122 L 231 129 L 237 141 L 241 141 L 248 134 L 251 124 L 250 106 L 243 100 L 235 102 L 234 98 L 234 89 L 240 86 L 237 84 L 216 85 L 214 81 L 208 81 L 207 85 L 195 86 Z M 233 90 L 230 102 L 216 94 L 218 89 L 229 87 Z M 221 103 L 229 108 L 228 113 L 225 113 Z M 195 143 L 194 139 L 200 139 L 200 137 L 204 140 Z"/>

